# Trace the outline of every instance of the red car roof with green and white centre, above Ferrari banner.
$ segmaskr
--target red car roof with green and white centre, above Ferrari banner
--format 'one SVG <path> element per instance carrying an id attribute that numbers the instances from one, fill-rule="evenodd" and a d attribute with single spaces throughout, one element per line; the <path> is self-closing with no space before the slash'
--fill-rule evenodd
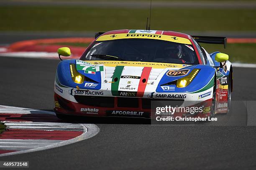
<path id="1" fill-rule="evenodd" d="M 182 38 L 190 39 L 190 36 L 185 33 L 179 33 L 175 31 L 165 31 L 165 30 L 111 30 L 108 31 L 102 35 L 108 35 L 108 34 L 121 34 L 121 33 L 155 33 L 155 34 L 162 34 L 166 36 L 177 36 Z"/>

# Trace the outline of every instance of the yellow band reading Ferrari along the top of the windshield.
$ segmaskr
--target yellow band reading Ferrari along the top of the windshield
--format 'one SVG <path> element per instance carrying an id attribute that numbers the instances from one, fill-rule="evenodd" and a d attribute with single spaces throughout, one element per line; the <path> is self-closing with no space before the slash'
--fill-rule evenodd
<path id="1" fill-rule="evenodd" d="M 118 40 L 126 38 L 145 38 L 154 40 L 164 40 L 171 41 L 174 43 L 191 44 L 189 39 L 175 36 L 166 36 L 160 34 L 138 34 L 138 33 L 122 33 L 122 34 L 109 34 L 100 36 L 96 41 L 108 41 L 108 40 Z"/>

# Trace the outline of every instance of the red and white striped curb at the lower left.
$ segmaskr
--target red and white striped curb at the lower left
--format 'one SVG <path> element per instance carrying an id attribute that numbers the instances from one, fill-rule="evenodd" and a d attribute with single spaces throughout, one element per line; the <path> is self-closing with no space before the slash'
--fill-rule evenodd
<path id="1" fill-rule="evenodd" d="M 64 123 L 54 112 L 0 105 L 0 156 L 46 150 L 95 136 L 95 124 Z"/>

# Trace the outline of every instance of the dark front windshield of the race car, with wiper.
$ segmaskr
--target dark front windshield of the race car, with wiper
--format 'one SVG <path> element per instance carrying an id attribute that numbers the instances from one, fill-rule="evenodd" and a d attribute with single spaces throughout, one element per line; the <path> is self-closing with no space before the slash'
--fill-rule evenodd
<path id="1" fill-rule="evenodd" d="M 198 64 L 192 45 L 154 39 L 95 41 L 80 60 L 121 60 Z"/>

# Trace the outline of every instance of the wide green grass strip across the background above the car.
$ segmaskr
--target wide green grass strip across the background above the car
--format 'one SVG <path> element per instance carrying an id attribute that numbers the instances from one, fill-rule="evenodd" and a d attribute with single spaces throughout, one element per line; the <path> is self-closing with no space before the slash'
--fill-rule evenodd
<path id="1" fill-rule="evenodd" d="M 0 31 L 144 29 L 148 9 L 0 7 Z M 152 30 L 255 31 L 255 9 L 154 8 Z"/>

